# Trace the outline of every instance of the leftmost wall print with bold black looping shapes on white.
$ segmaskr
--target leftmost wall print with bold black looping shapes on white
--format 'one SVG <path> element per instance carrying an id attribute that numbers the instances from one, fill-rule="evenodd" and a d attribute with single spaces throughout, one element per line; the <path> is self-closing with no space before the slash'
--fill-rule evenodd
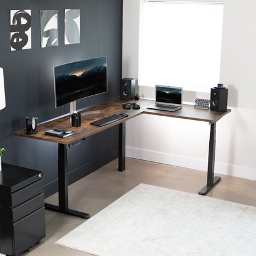
<path id="1" fill-rule="evenodd" d="M 10 10 L 10 50 L 31 49 L 31 10 Z"/>

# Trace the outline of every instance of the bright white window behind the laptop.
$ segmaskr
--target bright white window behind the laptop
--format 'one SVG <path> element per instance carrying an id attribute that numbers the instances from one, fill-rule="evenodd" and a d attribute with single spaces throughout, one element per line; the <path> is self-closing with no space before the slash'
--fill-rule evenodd
<path id="1" fill-rule="evenodd" d="M 139 86 L 209 92 L 220 76 L 223 4 L 145 1 L 140 16 Z"/>

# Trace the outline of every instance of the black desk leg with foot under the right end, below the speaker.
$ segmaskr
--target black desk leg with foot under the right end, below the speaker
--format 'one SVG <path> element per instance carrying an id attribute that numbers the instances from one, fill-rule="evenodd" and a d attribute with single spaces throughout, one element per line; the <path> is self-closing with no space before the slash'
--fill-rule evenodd
<path id="1" fill-rule="evenodd" d="M 215 145 L 216 145 L 216 122 L 210 124 L 210 142 L 208 156 L 207 185 L 202 188 L 198 194 L 205 195 L 217 182 L 220 177 L 214 177 L 215 164 Z"/>

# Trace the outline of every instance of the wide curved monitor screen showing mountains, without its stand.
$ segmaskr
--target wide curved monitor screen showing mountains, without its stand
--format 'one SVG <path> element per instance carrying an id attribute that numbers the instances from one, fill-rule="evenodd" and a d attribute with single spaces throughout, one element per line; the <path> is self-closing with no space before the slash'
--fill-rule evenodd
<path id="1" fill-rule="evenodd" d="M 106 57 L 54 67 L 55 108 L 108 91 Z"/>

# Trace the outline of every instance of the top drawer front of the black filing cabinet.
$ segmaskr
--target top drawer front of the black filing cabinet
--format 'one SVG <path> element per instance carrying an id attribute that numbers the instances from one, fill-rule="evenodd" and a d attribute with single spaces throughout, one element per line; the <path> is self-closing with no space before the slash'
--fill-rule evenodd
<path id="1" fill-rule="evenodd" d="M 31 183 L 31 185 L 25 186 L 24 188 L 11 193 L 12 206 L 19 204 L 26 199 L 31 198 L 34 194 L 38 194 L 44 190 L 44 180 L 38 180 L 37 182 Z"/>

